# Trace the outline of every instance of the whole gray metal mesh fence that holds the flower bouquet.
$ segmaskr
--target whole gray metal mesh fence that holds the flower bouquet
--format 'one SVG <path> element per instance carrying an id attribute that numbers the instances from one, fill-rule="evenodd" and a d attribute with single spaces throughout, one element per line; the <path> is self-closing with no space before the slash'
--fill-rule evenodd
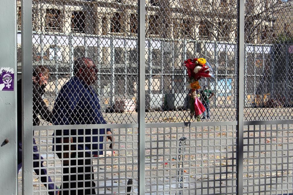
<path id="1" fill-rule="evenodd" d="M 53 113 L 49 120 L 33 106 L 42 126 L 33 127 L 35 148 L 26 152 L 38 156 L 30 169 L 47 170 L 34 173 L 33 193 L 241 194 L 242 187 L 244 194 L 292 193 L 291 124 L 278 120 L 292 120 L 293 2 L 243 5 L 33 0 L 33 63 L 26 66 L 49 69 L 48 84 L 37 93 Z M 197 94 L 207 111 L 199 122 L 190 116 L 188 58 L 206 58 L 214 70 L 200 80 Z"/>

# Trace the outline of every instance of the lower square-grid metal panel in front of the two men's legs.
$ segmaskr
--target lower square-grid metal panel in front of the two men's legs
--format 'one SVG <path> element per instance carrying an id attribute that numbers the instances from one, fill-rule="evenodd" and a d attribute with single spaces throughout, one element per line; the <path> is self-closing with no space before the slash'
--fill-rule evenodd
<path id="1" fill-rule="evenodd" d="M 56 194 L 56 191 L 71 195 L 137 194 L 137 128 L 113 129 L 113 149 L 105 141 L 105 134 L 99 135 L 98 142 L 81 141 L 84 137 L 94 139 L 96 135 L 91 133 L 94 129 L 79 129 L 77 137 L 74 129 L 70 130 L 70 136 L 64 130 L 50 129 L 54 128 L 36 128 L 34 133 L 34 194 Z M 103 149 L 89 150 L 88 144 L 92 148 L 95 144 L 103 145 Z"/>

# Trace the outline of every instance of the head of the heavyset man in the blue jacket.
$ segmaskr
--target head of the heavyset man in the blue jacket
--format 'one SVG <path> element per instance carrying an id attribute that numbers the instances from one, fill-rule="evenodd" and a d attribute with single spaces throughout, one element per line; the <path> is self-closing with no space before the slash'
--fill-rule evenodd
<path id="1" fill-rule="evenodd" d="M 88 85 L 97 80 L 98 69 L 91 58 L 81 57 L 74 61 L 74 74 Z"/>

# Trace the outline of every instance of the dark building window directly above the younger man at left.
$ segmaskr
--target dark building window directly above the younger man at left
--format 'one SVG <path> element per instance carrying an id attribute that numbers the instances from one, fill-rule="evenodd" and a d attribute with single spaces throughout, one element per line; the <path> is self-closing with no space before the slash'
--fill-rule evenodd
<path id="1" fill-rule="evenodd" d="M 61 11 L 56 9 L 46 9 L 45 29 L 46 30 L 60 30 L 60 15 Z"/>

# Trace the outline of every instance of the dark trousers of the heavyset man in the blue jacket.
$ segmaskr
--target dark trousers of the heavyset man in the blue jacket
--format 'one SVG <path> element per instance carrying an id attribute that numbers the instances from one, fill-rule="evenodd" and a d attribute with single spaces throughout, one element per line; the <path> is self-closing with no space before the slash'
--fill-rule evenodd
<path id="1" fill-rule="evenodd" d="M 93 181 L 94 175 L 93 175 L 93 167 L 92 165 L 92 160 L 91 159 L 78 159 L 78 158 L 83 158 L 85 157 L 91 157 L 89 153 L 85 152 L 85 155 L 83 152 L 78 152 L 77 153 L 77 165 L 83 165 L 81 167 L 76 167 L 76 159 L 70 160 L 70 166 L 69 167 L 64 167 L 63 169 L 63 174 L 68 174 L 64 175 L 62 179 L 62 186 L 60 186 L 60 195 L 68 195 L 69 194 L 69 189 L 72 188 L 94 188 L 96 184 Z M 62 158 L 61 153 L 57 153 L 59 158 Z M 71 158 L 75 158 L 76 153 L 71 154 Z M 63 164 L 63 166 L 68 166 L 66 164 Z M 92 172 L 92 174 L 91 174 Z M 77 181 L 76 181 L 77 179 Z M 89 181 L 86 181 L 89 180 Z M 85 182 L 84 182 L 85 181 Z M 77 186 L 76 186 L 77 183 Z M 70 186 L 69 186 L 70 184 Z M 67 189 L 67 190 L 66 190 Z M 70 194 L 76 194 L 76 189 L 70 190 Z M 83 195 L 83 194 L 96 194 L 95 189 L 78 189 L 77 190 L 78 195 Z"/>

